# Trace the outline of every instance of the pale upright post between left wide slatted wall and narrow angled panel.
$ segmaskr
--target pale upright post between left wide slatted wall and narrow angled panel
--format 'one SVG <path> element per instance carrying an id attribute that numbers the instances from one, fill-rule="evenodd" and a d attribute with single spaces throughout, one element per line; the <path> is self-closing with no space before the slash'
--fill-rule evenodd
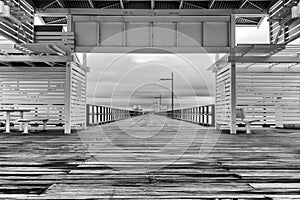
<path id="1" fill-rule="evenodd" d="M 67 62 L 65 86 L 65 134 L 71 134 L 71 76 L 72 63 Z"/>

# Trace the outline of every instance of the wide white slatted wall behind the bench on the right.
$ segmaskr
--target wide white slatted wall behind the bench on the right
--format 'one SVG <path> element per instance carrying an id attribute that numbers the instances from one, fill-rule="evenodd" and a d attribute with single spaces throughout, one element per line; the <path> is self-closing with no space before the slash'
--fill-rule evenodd
<path id="1" fill-rule="evenodd" d="M 238 72 L 237 107 L 256 124 L 299 124 L 300 72 Z"/>

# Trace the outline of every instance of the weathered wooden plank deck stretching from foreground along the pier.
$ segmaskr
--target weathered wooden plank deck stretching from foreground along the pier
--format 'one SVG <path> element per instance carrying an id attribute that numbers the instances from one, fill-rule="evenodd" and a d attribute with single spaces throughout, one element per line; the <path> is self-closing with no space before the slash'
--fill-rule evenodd
<path id="1" fill-rule="evenodd" d="M 146 115 L 0 138 L 0 199 L 300 199 L 299 130 L 229 135 Z"/>

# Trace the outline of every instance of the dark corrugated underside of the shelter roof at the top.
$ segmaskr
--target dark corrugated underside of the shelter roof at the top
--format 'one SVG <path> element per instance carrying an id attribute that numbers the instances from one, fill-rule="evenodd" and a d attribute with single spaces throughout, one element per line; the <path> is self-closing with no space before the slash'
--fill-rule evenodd
<path id="1" fill-rule="evenodd" d="M 268 10 L 277 0 L 27 0 L 34 8 L 83 9 L 147 9 L 147 10 L 198 10 L 198 9 L 257 9 Z M 46 24 L 66 24 L 66 18 L 43 16 Z M 257 26 L 263 17 L 241 17 L 237 25 Z"/>

